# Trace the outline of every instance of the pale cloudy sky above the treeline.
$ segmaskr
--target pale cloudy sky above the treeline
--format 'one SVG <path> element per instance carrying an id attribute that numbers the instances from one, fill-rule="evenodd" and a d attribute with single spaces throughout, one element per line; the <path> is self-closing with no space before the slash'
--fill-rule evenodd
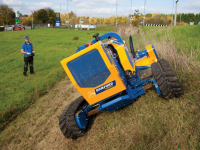
<path id="1" fill-rule="evenodd" d="M 6 4 L 20 13 L 31 14 L 45 7 L 50 7 L 55 12 L 66 13 L 73 11 L 77 16 L 110 17 L 116 15 L 128 16 L 134 10 L 139 9 L 144 13 L 145 0 L 0 0 L 0 4 Z M 132 5 L 131 5 L 132 1 Z M 176 0 L 146 0 L 145 13 L 175 12 Z M 61 6 L 61 7 L 60 7 Z M 200 0 L 179 0 L 177 13 L 200 13 Z"/>

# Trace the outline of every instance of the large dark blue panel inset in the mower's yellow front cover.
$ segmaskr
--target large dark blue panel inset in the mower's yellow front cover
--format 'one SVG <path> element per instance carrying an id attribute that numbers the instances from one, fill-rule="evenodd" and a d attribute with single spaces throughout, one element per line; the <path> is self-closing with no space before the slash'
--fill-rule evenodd
<path id="1" fill-rule="evenodd" d="M 67 67 L 81 88 L 103 84 L 111 74 L 97 49 L 68 62 Z"/>

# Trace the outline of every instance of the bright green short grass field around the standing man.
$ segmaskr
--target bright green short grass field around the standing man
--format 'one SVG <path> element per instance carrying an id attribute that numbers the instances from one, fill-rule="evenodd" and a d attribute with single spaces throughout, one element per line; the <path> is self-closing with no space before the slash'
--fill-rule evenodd
<path id="1" fill-rule="evenodd" d="M 60 61 L 75 53 L 78 46 L 90 41 L 92 35 L 110 31 L 100 27 L 96 31 L 41 28 L 27 31 L 1 32 L 0 44 L 0 129 L 17 114 L 29 107 L 65 74 Z M 24 37 L 32 42 L 35 74 L 23 76 Z M 73 40 L 77 36 L 78 40 Z"/>

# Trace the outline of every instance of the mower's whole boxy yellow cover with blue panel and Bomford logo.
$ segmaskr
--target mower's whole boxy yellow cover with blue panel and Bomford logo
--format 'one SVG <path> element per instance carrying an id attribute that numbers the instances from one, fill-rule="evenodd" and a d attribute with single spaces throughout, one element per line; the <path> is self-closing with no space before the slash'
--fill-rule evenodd
<path id="1" fill-rule="evenodd" d="M 126 89 L 101 41 L 62 60 L 61 64 L 72 84 L 90 105 Z"/>

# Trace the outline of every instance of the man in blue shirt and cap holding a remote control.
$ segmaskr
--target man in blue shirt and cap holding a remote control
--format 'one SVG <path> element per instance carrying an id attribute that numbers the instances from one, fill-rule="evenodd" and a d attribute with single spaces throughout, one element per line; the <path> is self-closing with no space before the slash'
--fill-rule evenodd
<path id="1" fill-rule="evenodd" d="M 25 36 L 25 43 L 22 44 L 21 53 L 24 54 L 24 72 L 23 75 L 27 76 L 26 72 L 28 71 L 28 64 L 30 66 L 30 73 L 34 74 L 33 71 L 33 56 L 34 50 L 32 43 L 29 42 L 29 37 Z"/>

